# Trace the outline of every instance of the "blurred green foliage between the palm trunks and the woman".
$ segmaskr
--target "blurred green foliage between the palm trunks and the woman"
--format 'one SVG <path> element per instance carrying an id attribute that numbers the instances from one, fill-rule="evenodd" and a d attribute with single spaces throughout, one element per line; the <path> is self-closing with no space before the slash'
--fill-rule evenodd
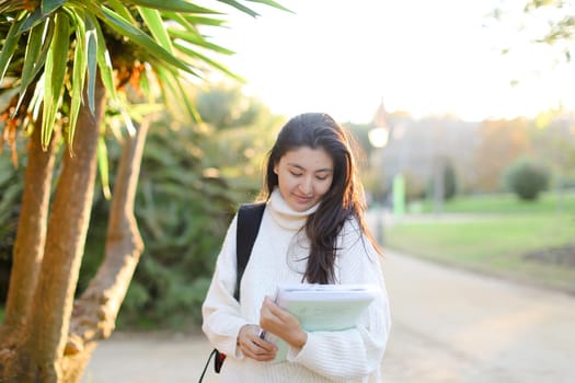
<path id="1" fill-rule="evenodd" d="M 266 116 L 263 113 L 263 119 L 246 126 L 203 129 L 165 116 L 151 127 L 135 202 L 146 248 L 123 302 L 118 328 L 182 329 L 200 321 L 200 305 L 232 214 L 241 202 L 253 200 L 261 186 L 257 169 L 275 136 L 265 128 L 279 125 Z M 119 150 L 113 141 L 108 156 L 114 181 Z M 97 197 L 79 290 L 104 253 L 110 201 L 101 193 Z"/>

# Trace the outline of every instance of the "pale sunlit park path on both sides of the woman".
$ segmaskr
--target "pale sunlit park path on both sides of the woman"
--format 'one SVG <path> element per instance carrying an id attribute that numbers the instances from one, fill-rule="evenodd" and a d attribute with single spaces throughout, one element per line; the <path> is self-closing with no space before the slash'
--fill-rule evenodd
<path id="1" fill-rule="evenodd" d="M 386 383 L 575 382 L 575 297 L 391 251 L 383 269 L 393 318 Z M 210 350 L 200 334 L 115 334 L 82 383 L 197 382 Z"/>

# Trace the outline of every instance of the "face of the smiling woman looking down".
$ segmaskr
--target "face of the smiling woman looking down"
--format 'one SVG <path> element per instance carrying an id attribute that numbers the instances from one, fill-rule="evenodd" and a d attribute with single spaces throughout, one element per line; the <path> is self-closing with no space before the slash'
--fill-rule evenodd
<path id="1" fill-rule="evenodd" d="M 306 211 L 320 202 L 332 186 L 333 160 L 322 148 L 301 147 L 286 152 L 275 164 L 274 173 L 289 207 Z"/>

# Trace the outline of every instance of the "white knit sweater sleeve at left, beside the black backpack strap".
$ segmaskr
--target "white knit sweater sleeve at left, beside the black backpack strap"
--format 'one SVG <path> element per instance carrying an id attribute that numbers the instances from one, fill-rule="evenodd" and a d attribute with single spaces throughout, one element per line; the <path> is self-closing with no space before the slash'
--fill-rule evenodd
<path id="1" fill-rule="evenodd" d="M 202 305 L 202 329 L 219 351 L 242 358 L 237 339 L 240 328 L 248 322 L 242 317 L 240 304 L 233 298 L 237 278 L 237 220 L 238 216 L 228 228 L 211 283 Z"/>

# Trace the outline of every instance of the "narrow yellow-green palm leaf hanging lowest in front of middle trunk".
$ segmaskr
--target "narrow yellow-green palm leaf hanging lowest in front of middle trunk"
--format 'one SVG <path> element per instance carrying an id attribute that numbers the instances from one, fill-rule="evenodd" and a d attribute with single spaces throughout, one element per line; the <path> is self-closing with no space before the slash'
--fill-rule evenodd
<path id="1" fill-rule="evenodd" d="M 72 90 L 70 92 L 70 121 L 68 125 L 68 150 L 71 153 L 73 153 L 73 136 L 76 132 L 78 114 L 82 104 L 85 71 L 88 68 L 88 47 L 83 18 L 77 13 L 74 13 L 74 16 L 76 48 L 73 54 Z"/>

